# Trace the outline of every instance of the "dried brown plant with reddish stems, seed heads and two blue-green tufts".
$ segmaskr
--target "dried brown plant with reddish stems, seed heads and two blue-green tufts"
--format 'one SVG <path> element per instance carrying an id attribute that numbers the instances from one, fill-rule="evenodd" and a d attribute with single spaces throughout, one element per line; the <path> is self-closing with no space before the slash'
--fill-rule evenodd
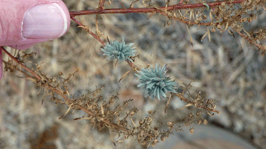
<path id="1" fill-rule="evenodd" d="M 133 50 L 134 48 L 130 48 L 132 44 L 129 44 L 128 47 L 127 45 L 124 44 L 124 39 L 122 39 L 121 45 L 115 45 L 118 44 L 117 41 L 110 42 L 110 45 L 114 44 L 113 47 L 116 49 L 119 49 L 118 51 L 115 51 L 114 49 L 107 50 L 108 45 L 103 42 L 103 40 L 100 39 L 102 33 L 99 32 L 99 29 L 97 27 L 97 34 L 92 33 L 89 30 L 88 26 L 83 25 L 81 21 L 78 21 L 75 18 L 75 15 L 83 15 L 83 14 L 100 14 L 100 13 L 133 13 L 133 12 L 139 12 L 139 13 L 151 13 L 149 17 L 152 17 L 155 13 L 160 13 L 161 15 L 166 16 L 166 22 L 167 25 L 171 25 L 171 22 L 173 19 L 184 22 L 187 24 L 187 28 L 193 26 L 193 25 L 198 25 L 198 28 L 202 25 L 207 26 L 207 32 L 203 36 L 208 35 L 209 40 L 210 40 L 210 31 L 214 32 L 217 29 L 219 29 L 220 33 L 223 33 L 224 31 L 229 31 L 234 36 L 234 32 L 239 33 L 243 39 L 247 40 L 249 43 L 254 44 L 258 47 L 259 50 L 262 51 L 262 56 L 265 54 L 265 49 L 266 47 L 262 44 L 261 40 L 264 40 L 266 38 L 266 32 L 265 28 L 263 29 L 258 29 L 258 31 L 246 31 L 243 29 L 242 22 L 251 22 L 257 18 L 257 15 L 260 13 L 255 11 L 258 11 L 258 9 L 261 7 L 265 10 L 265 1 L 244 1 L 244 0 L 230 0 L 230 1 L 218 1 L 218 2 L 210 2 L 210 3 L 205 3 L 205 1 L 196 1 L 195 3 L 192 3 L 193 1 L 183 1 L 181 0 L 178 4 L 172 5 L 169 1 L 165 1 L 165 6 L 157 7 L 154 6 L 151 1 L 145 0 L 143 1 L 143 4 L 145 8 L 133 8 L 133 3 L 130 5 L 130 8 L 122 8 L 122 9 L 104 9 L 103 4 L 104 0 L 99 1 L 99 8 L 96 10 L 83 10 L 83 11 L 77 11 L 77 12 L 70 12 L 71 18 L 77 22 L 79 25 L 78 27 L 82 27 L 85 31 L 90 33 L 92 36 L 94 36 L 97 40 L 99 40 L 101 43 L 106 45 L 104 47 L 104 50 L 109 52 L 108 54 L 105 54 L 110 58 L 110 60 L 117 58 L 119 62 L 122 62 L 125 60 L 129 65 L 131 70 L 141 74 L 143 71 L 146 71 L 148 68 L 141 68 L 139 69 L 134 63 L 135 57 Z M 241 7 L 237 8 L 234 6 L 234 3 L 241 3 Z M 205 9 L 209 9 L 209 15 L 206 12 Z M 181 9 L 184 9 L 185 11 L 182 12 L 180 11 Z M 253 12 L 254 11 L 254 12 Z M 206 13 L 206 14 L 203 14 Z M 196 15 L 196 17 L 195 17 Z M 209 21 L 203 21 L 207 19 L 207 16 L 210 18 Z M 97 25 L 97 22 L 96 22 Z M 98 26 L 98 25 L 97 25 Z M 210 30 L 208 26 L 213 26 Z M 229 29 L 229 27 L 232 28 L 233 31 Z M 243 31 L 242 31 L 243 30 Z M 242 31 L 242 33 L 241 33 Z M 244 33 L 243 33 L 244 32 Z M 191 40 L 192 44 L 192 40 Z M 122 47 L 127 47 L 126 50 L 123 51 Z M 192 45 L 193 46 L 193 45 Z M 5 49 L 1 47 L 1 49 L 6 52 Z M 126 52 L 123 53 L 123 52 Z M 70 95 L 67 89 L 67 84 L 72 80 L 71 77 L 74 77 L 75 72 L 70 73 L 67 78 L 58 78 L 58 76 L 54 77 L 47 77 L 47 74 L 41 72 L 41 64 L 37 65 L 37 68 L 30 70 L 23 65 L 24 62 L 27 62 L 27 57 L 32 54 L 25 54 L 23 56 L 18 56 L 14 58 L 11 54 L 6 52 L 10 57 L 11 61 L 4 62 L 5 63 L 5 69 L 10 70 L 10 72 L 14 72 L 15 69 L 20 70 L 22 73 L 24 73 L 29 79 L 31 79 L 33 82 L 36 83 L 36 86 L 39 87 L 39 93 L 41 92 L 41 89 L 44 90 L 46 88 L 47 90 L 47 96 L 51 96 L 51 100 L 55 101 L 56 104 L 58 102 L 65 103 L 68 105 L 68 111 L 70 109 L 75 109 L 75 110 L 83 110 L 87 113 L 87 115 L 84 115 L 82 118 L 76 118 L 76 119 L 89 119 L 91 120 L 91 123 L 94 126 L 97 126 L 99 130 L 103 129 L 104 127 L 108 127 L 110 130 L 111 135 L 115 132 L 118 133 L 119 136 L 121 134 L 124 135 L 125 139 L 128 139 L 130 137 L 134 137 L 134 139 L 138 140 L 139 143 L 142 143 L 143 145 L 146 145 L 149 143 L 151 146 L 155 146 L 156 143 L 158 143 L 159 138 L 161 141 L 165 141 L 165 138 L 171 134 L 172 131 L 174 130 L 182 130 L 181 127 L 183 126 L 191 126 L 193 127 L 190 128 L 189 133 L 194 132 L 194 127 L 195 125 L 192 123 L 194 120 L 197 121 L 197 124 L 207 124 L 207 120 L 204 119 L 201 114 L 206 111 L 208 114 L 210 114 L 210 111 L 219 113 L 219 111 L 215 110 L 215 102 L 212 99 L 207 99 L 204 100 L 200 95 L 201 93 L 198 93 L 198 95 L 194 98 L 191 97 L 190 94 L 185 94 L 185 91 L 188 91 L 188 87 L 191 86 L 191 82 L 186 85 L 184 84 L 183 91 L 181 93 L 176 92 L 176 85 L 175 81 L 169 81 L 169 82 L 163 82 L 162 84 L 158 80 L 157 77 L 153 77 L 151 79 L 151 82 L 148 82 L 148 80 L 143 80 L 141 82 L 141 85 L 148 84 L 145 86 L 146 88 L 146 93 L 145 96 L 151 95 L 151 99 L 153 99 L 155 96 L 160 99 L 159 94 L 162 95 L 163 97 L 167 97 L 165 93 L 170 91 L 170 96 L 168 98 L 167 106 L 170 102 L 170 98 L 172 95 L 177 95 L 181 100 L 185 100 L 188 104 L 184 107 L 189 107 L 193 106 L 198 109 L 198 112 L 196 112 L 196 116 L 194 116 L 193 113 L 188 114 L 188 119 L 184 122 L 184 125 L 182 126 L 177 126 L 175 127 L 174 122 L 167 122 L 165 124 L 160 124 L 159 126 L 154 126 L 152 125 L 153 123 L 153 116 L 155 111 L 148 111 L 149 116 L 142 118 L 142 120 L 139 121 L 139 124 L 136 125 L 132 119 L 131 116 L 133 116 L 135 113 L 138 112 L 138 109 L 136 107 L 134 108 L 129 108 L 127 109 L 127 114 L 124 118 L 119 118 L 120 113 L 122 113 L 123 110 L 125 110 L 125 107 L 127 107 L 132 99 L 126 100 L 123 103 L 119 104 L 117 103 L 115 109 L 110 109 L 109 106 L 110 104 L 114 105 L 116 104 L 114 100 L 118 99 L 118 93 L 116 96 L 110 97 L 109 100 L 102 99 L 101 95 L 98 95 L 99 93 L 102 92 L 102 87 L 97 88 L 95 91 L 89 92 L 84 95 Z M 113 54 L 113 55 L 112 55 Z M 12 61 L 17 62 L 17 65 L 13 66 Z M 22 67 L 25 68 L 28 72 L 30 72 L 34 77 L 28 75 L 26 72 L 22 71 Z M 165 66 L 166 67 L 166 66 Z M 163 67 L 165 69 L 165 67 Z M 157 69 L 157 63 L 155 68 Z M 152 69 L 152 68 L 151 68 Z M 163 69 L 163 71 L 164 71 Z M 160 70 L 160 68 L 159 68 Z M 130 70 L 129 70 L 130 71 Z M 127 75 L 128 72 L 125 73 Z M 77 72 L 77 71 L 76 71 Z M 61 74 L 58 74 L 61 76 Z M 125 75 L 122 76 L 125 77 Z M 141 77 L 140 75 L 137 75 L 138 77 Z M 122 79 L 121 78 L 121 79 Z M 164 77 L 166 79 L 167 77 Z M 168 78 L 169 79 L 169 78 Z M 152 83 L 153 81 L 153 83 Z M 148 83 L 147 83 L 148 82 Z M 163 88 L 168 84 L 169 88 L 167 90 L 159 90 L 158 86 Z M 155 86 L 156 85 L 156 86 Z M 144 88 L 144 89 L 145 89 Z M 49 90 L 48 90 L 49 89 Z M 152 89 L 152 90 L 151 90 Z M 65 101 L 61 101 L 56 94 L 60 95 L 65 99 Z M 188 97 L 184 97 L 184 95 L 188 95 Z M 68 96 L 68 97 L 66 97 Z M 70 98 L 72 96 L 72 98 Z M 166 108 L 167 108 L 166 106 Z M 181 108 L 184 108 L 181 107 Z M 181 109 L 179 108 L 179 109 Z M 66 113 L 67 113 L 66 112 Z M 213 114 L 210 114 L 213 115 Z M 131 123 L 132 125 L 129 126 L 128 123 Z M 97 123 L 97 124 L 96 124 Z M 163 131 L 160 130 L 161 125 L 167 125 L 169 127 L 169 130 Z M 129 129 L 129 127 L 131 129 Z M 174 128 L 175 127 L 175 128 Z M 111 137 L 112 138 L 112 137 Z M 118 141 L 120 142 L 120 141 Z"/>

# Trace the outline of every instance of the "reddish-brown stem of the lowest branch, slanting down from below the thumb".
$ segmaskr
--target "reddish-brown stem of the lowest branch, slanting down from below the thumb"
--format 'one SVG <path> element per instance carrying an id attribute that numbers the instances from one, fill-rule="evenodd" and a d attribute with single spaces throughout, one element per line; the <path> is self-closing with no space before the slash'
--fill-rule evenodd
<path id="1" fill-rule="evenodd" d="M 27 70 L 28 72 L 30 72 L 34 77 L 36 77 L 38 80 L 41 80 L 41 77 L 39 77 L 35 72 L 33 72 L 32 70 L 30 70 L 29 68 L 27 68 L 25 65 L 21 64 L 16 58 L 14 58 L 9 52 L 6 51 L 6 49 L 4 47 L 0 47 L 0 49 L 2 51 L 4 51 L 11 59 L 13 59 L 13 61 L 15 61 L 16 63 L 19 63 L 21 65 L 21 67 L 23 67 L 25 70 Z M 58 91 L 57 89 L 53 88 L 52 86 L 50 86 L 49 84 L 44 86 L 45 88 L 51 90 L 51 91 L 55 91 L 56 93 L 58 93 L 58 95 L 60 95 L 61 97 L 63 97 L 65 100 L 74 103 L 72 100 L 68 99 L 68 97 L 66 97 L 65 95 L 63 95 L 60 91 Z M 79 107 L 81 110 L 85 111 L 86 113 L 88 113 L 90 116 L 94 116 L 94 113 L 92 113 L 91 111 L 83 108 L 82 106 L 75 104 L 75 106 Z M 123 130 L 123 131 L 127 131 L 127 129 L 125 128 L 121 128 L 113 123 L 110 123 L 106 120 L 103 120 L 104 123 L 106 123 L 107 125 L 113 126 L 119 130 Z"/>

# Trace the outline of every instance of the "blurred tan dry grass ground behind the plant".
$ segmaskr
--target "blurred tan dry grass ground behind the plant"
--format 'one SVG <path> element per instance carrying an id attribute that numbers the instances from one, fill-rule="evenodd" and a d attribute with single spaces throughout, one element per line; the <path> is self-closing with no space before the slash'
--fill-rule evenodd
<path id="1" fill-rule="evenodd" d="M 122 8 L 117 1 L 111 2 L 110 5 L 105 3 L 105 8 Z M 120 2 L 126 8 L 131 3 L 125 0 Z M 165 3 L 153 2 L 156 6 L 163 6 Z M 65 4 L 69 11 L 98 7 L 98 1 L 90 0 L 68 0 Z M 139 1 L 133 6 L 140 8 L 143 4 Z M 210 33 L 211 43 L 207 37 L 201 42 L 201 37 L 207 31 L 206 26 L 201 26 L 200 29 L 197 26 L 189 28 L 193 48 L 186 24 L 172 22 L 170 26 L 163 27 L 166 17 L 156 14 L 146 20 L 149 15 L 100 14 L 99 30 L 110 40 L 121 41 L 123 36 L 126 44 L 134 43 L 137 54 L 141 55 L 136 59 L 137 66 L 146 66 L 148 63 L 154 66 L 157 61 L 161 65 L 167 63 L 168 74 L 172 79 L 177 79 L 179 85 L 188 84 L 190 79 L 195 79 L 196 82 L 189 90 L 192 95 L 201 91 L 202 97 L 211 97 L 214 100 L 220 98 L 216 106 L 221 114 L 205 115 L 209 123 L 220 123 L 247 142 L 266 148 L 266 61 L 265 57 L 260 56 L 261 52 L 257 52 L 256 47 L 247 42 L 242 47 L 242 38 L 236 34 L 233 38 L 228 32 L 224 32 L 221 38 L 218 31 Z M 83 24 L 89 25 L 95 33 L 96 15 L 79 17 L 84 18 Z M 253 30 L 257 26 L 264 27 L 265 18 L 265 12 L 262 12 L 257 20 L 244 26 Z M 25 50 L 26 53 L 37 52 L 30 59 L 33 63 L 26 63 L 26 66 L 35 68 L 34 63 L 44 62 L 42 72 L 47 73 L 48 77 L 63 72 L 63 76 L 67 78 L 68 73 L 79 70 L 68 84 L 70 94 L 86 93 L 86 89 L 93 91 L 95 85 L 99 87 L 106 84 L 102 89 L 105 100 L 116 95 L 116 92 L 120 94 L 119 100 L 116 100 L 118 103 L 133 98 L 129 108 L 134 104 L 139 109 L 133 116 L 135 123 L 146 117 L 148 110 L 156 110 L 154 126 L 164 123 L 162 129 L 167 130 L 167 121 L 183 122 L 188 113 L 196 111 L 194 108 L 175 110 L 185 104 L 175 97 L 164 113 L 166 100 L 155 99 L 151 102 L 149 97 L 144 99 L 143 92 L 136 88 L 138 83 L 132 72 L 118 83 L 130 67 L 125 62 L 118 63 L 116 67 L 115 61 L 106 62 L 101 47 L 103 45 L 98 40 L 77 28 L 77 24 L 72 21 L 70 29 L 63 37 L 35 44 Z M 5 48 L 11 54 L 14 53 L 14 49 Z M 7 55 L 3 54 L 3 59 L 6 60 Z M 107 129 L 98 131 L 97 128 L 92 129 L 93 125 L 89 120 L 73 120 L 82 117 L 84 112 L 69 112 L 58 120 L 68 107 L 64 104 L 56 106 L 48 97 L 44 98 L 41 105 L 46 90 L 43 93 L 41 90 L 37 95 L 39 88 L 31 81 L 16 76 L 18 72 L 5 72 L 0 81 L 0 148 L 115 148 Z M 176 133 L 186 135 L 189 132 L 174 132 Z M 115 141 L 122 138 L 117 139 L 116 134 L 113 136 Z M 116 145 L 116 148 L 146 148 L 133 138 Z"/>

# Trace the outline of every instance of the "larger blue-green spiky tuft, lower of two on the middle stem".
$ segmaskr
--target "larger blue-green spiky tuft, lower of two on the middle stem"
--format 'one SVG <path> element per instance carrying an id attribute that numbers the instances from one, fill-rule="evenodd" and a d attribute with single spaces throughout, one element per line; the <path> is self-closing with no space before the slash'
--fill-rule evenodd
<path id="1" fill-rule="evenodd" d="M 157 63 L 155 64 L 154 69 L 151 66 L 151 69 L 141 68 L 141 71 L 137 71 L 139 74 L 135 74 L 139 77 L 139 85 L 137 87 L 142 86 L 142 90 L 145 92 L 145 98 L 150 95 L 151 100 L 154 97 L 157 97 L 160 100 L 160 95 L 166 97 L 165 93 L 170 91 L 172 93 L 177 93 L 175 87 L 178 83 L 176 80 L 171 81 L 171 76 L 167 77 L 167 70 L 165 70 L 167 64 L 165 64 L 162 68 L 159 65 L 157 68 Z"/>

